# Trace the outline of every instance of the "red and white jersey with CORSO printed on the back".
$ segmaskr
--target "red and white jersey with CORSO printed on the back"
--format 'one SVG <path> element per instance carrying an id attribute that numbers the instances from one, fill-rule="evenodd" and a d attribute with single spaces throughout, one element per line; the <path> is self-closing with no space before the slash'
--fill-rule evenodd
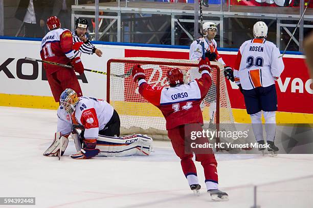
<path id="1" fill-rule="evenodd" d="M 176 87 L 152 87 L 140 80 L 139 93 L 158 107 L 166 119 L 166 129 L 188 123 L 203 123 L 200 103 L 208 93 L 212 78 L 207 70 L 202 77 Z"/>

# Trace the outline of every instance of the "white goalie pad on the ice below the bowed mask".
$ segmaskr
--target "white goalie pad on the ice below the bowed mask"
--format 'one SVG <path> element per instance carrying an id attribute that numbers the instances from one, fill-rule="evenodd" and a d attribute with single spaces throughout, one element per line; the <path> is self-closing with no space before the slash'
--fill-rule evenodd
<path id="1" fill-rule="evenodd" d="M 61 136 L 60 132 L 57 132 L 54 134 L 54 139 L 50 147 L 43 153 L 44 156 L 51 156 L 56 157 L 58 154 L 58 151 L 60 150 L 60 141 L 62 138 L 62 144 L 61 144 L 61 155 L 63 155 L 66 147 L 69 144 L 69 139 Z"/>

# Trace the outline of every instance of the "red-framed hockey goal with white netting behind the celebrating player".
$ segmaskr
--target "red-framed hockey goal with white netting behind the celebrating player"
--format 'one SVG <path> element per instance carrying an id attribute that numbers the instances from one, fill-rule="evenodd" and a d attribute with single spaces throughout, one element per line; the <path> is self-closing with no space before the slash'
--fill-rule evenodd
<path id="1" fill-rule="evenodd" d="M 138 85 L 132 80 L 131 68 L 137 64 L 140 64 L 145 70 L 148 84 L 168 86 L 166 72 L 174 67 L 183 70 L 185 83 L 200 77 L 197 68 L 198 61 L 145 57 L 111 59 L 108 61 L 107 72 L 110 75 L 107 76 L 107 101 L 120 115 L 121 134 L 166 135 L 165 118 L 161 111 L 139 94 Z M 223 66 L 218 62 L 211 62 L 211 64 L 213 65 L 211 72 L 213 82 L 202 103 L 204 122 L 209 124 L 206 126 L 211 129 L 216 129 L 216 122 L 218 122 L 220 123 L 220 129 L 232 131 L 234 118 Z M 217 70 L 219 70 L 219 73 Z M 217 97 L 218 93 L 216 93 L 218 90 L 219 99 Z M 217 105 L 218 100 L 219 105 Z"/>

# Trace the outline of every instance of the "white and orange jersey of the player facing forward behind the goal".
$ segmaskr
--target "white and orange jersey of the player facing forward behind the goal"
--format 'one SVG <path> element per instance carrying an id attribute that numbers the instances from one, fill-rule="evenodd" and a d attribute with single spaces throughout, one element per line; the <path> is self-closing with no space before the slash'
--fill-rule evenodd
<path id="1" fill-rule="evenodd" d="M 202 57 L 201 40 L 202 38 L 199 38 L 191 43 L 190 49 L 189 49 L 189 60 L 195 61 L 195 60 L 201 59 Z M 205 52 L 207 51 L 210 51 L 210 53 L 214 52 L 216 54 L 216 61 L 218 61 L 222 65 L 225 65 L 225 62 L 223 61 L 221 56 L 218 54 L 217 43 L 214 39 L 208 40 L 207 38 L 205 38 L 204 46 L 205 46 Z"/>

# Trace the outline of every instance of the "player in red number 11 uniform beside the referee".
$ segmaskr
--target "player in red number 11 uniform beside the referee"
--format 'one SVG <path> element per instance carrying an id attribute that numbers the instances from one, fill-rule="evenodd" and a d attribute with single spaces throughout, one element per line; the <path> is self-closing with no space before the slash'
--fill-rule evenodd
<path id="1" fill-rule="evenodd" d="M 61 29 L 61 24 L 56 16 L 49 17 L 47 26 L 50 30 L 41 41 L 40 56 L 44 61 L 60 64 L 71 64 L 74 68 L 64 68 L 57 65 L 43 64 L 46 69 L 47 79 L 56 102 L 59 102 L 61 93 L 66 88 L 71 88 L 82 96 L 75 71 L 84 72 L 84 66 L 79 57 L 74 58 L 73 37 L 70 30 Z"/>

